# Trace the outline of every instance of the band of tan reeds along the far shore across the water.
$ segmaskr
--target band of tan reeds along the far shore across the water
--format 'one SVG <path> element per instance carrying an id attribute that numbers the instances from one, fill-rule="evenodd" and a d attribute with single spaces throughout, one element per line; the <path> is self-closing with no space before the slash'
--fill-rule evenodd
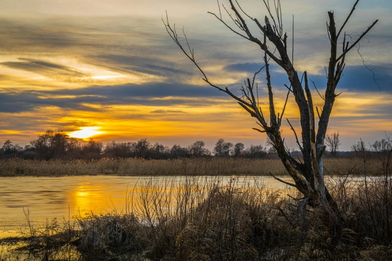
<path id="1" fill-rule="evenodd" d="M 378 174 L 379 162 L 367 161 L 366 173 Z M 326 158 L 326 174 L 363 173 L 360 159 Z M 285 175 L 279 159 L 244 158 L 103 158 L 99 160 L 27 160 L 20 158 L 0 159 L 0 176 L 65 176 L 65 175 Z"/>

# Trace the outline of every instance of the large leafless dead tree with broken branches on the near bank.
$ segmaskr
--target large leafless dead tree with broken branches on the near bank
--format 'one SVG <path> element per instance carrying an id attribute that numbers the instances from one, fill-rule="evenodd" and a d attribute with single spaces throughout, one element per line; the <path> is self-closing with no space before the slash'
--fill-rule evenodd
<path id="1" fill-rule="evenodd" d="M 320 95 L 324 99 L 324 105 L 320 110 L 313 105 L 312 94 L 308 85 L 308 77 L 306 71 L 302 76 L 297 73 L 292 58 L 292 53 L 287 48 L 287 34 L 283 31 L 282 15 L 281 15 L 281 4 L 280 0 L 274 1 L 270 4 L 268 0 L 263 0 L 267 15 L 264 21 L 261 22 L 255 17 L 251 17 L 245 12 L 245 10 L 239 5 L 237 0 L 228 0 L 231 10 L 234 14 L 231 14 L 224 5 L 222 10 L 225 10 L 235 27 L 231 26 L 222 18 L 221 7 L 219 5 L 219 14 L 211 13 L 219 21 L 221 21 L 228 29 L 237 35 L 257 44 L 263 52 L 264 66 L 257 71 L 253 78 L 245 81 L 245 86 L 241 87 L 242 96 L 237 96 L 232 93 L 227 87 L 220 87 L 212 83 L 200 65 L 196 62 L 194 51 L 189 46 L 187 37 L 184 33 L 184 38 L 187 45 L 182 45 L 177 34 L 175 26 L 171 26 L 166 15 L 165 23 L 167 32 L 176 42 L 178 47 L 184 52 L 184 54 L 196 65 L 196 67 L 203 74 L 203 80 L 211 86 L 226 92 L 232 98 L 234 98 L 239 105 L 245 109 L 252 117 L 257 119 L 258 128 L 254 128 L 259 132 L 265 132 L 273 147 L 276 149 L 281 161 L 284 164 L 287 172 L 293 178 L 295 183 L 288 183 L 293 187 L 296 187 L 305 198 L 307 202 L 321 206 L 327 213 L 330 214 L 336 220 L 336 213 L 333 211 L 334 201 L 330 196 L 328 190 L 324 184 L 323 174 L 323 153 L 325 151 L 324 139 L 325 133 L 328 126 L 329 116 L 332 111 L 333 103 L 335 98 L 340 94 L 335 92 L 336 86 L 342 76 L 345 57 L 347 53 L 356 46 L 359 41 L 367 34 L 367 32 L 377 23 L 375 20 L 365 31 L 363 31 L 358 38 L 351 39 L 344 32 L 344 27 L 351 17 L 356 4 L 359 0 L 356 0 L 347 18 L 343 24 L 337 29 L 334 20 L 333 11 L 328 11 L 329 22 L 327 22 L 327 32 L 330 42 L 330 57 L 329 64 L 326 68 L 327 72 L 327 84 L 324 95 Z M 262 37 L 258 38 L 254 32 L 248 27 L 248 22 L 254 22 L 258 27 L 257 33 L 261 33 Z M 272 45 L 272 46 L 269 46 Z M 338 48 L 338 45 L 341 45 Z M 287 73 L 290 86 L 287 86 L 286 102 L 284 103 L 282 111 L 276 113 L 274 104 L 274 96 L 272 91 L 269 62 L 272 60 L 279 65 Z M 262 69 L 265 70 L 266 74 L 266 87 L 268 90 L 268 102 L 269 102 L 269 122 L 268 118 L 265 117 L 264 111 L 258 103 L 257 95 L 257 83 L 255 84 L 256 74 Z M 301 125 L 301 139 L 298 137 L 292 124 L 287 119 L 288 124 L 294 132 L 296 142 L 302 152 L 303 161 L 295 159 L 291 156 L 289 150 L 285 146 L 284 138 L 281 136 L 281 124 L 283 120 L 284 110 L 286 108 L 287 100 L 293 93 L 295 102 L 299 109 L 300 114 L 300 125 Z M 316 130 L 315 126 L 315 112 L 317 111 L 319 121 Z M 282 181 L 283 182 L 283 181 Z M 332 206 L 332 207 L 329 207 Z M 332 209 L 332 210 L 331 210 Z"/>

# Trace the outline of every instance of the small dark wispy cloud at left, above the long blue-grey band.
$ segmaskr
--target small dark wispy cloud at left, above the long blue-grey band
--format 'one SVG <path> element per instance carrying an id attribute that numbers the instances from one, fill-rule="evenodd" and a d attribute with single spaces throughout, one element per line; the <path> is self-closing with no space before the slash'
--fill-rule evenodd
<path id="1" fill-rule="evenodd" d="M 19 58 L 21 61 L 6 61 L 0 63 L 1 65 L 8 66 L 14 69 L 31 71 L 51 78 L 81 78 L 90 76 L 89 74 L 80 72 L 75 68 L 68 66 L 28 58 Z"/>

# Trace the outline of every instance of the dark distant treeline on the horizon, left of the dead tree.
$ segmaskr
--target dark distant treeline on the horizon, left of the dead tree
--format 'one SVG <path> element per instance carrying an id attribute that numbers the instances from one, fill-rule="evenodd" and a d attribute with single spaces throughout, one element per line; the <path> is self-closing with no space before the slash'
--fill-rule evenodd
<path id="1" fill-rule="evenodd" d="M 267 142 L 268 144 L 268 142 Z M 147 138 L 136 142 L 115 142 L 104 145 L 101 141 L 90 139 L 80 143 L 79 139 L 70 137 L 64 131 L 48 129 L 37 139 L 24 147 L 7 140 L 0 149 L 1 157 L 20 157 L 26 159 L 99 159 L 103 157 L 141 157 L 151 159 L 168 159 L 181 157 L 243 157 L 266 158 L 276 157 L 272 146 L 250 145 L 245 147 L 241 142 L 231 143 L 219 139 L 211 150 L 205 147 L 204 141 L 195 141 L 191 145 L 164 146 L 151 143 Z"/>

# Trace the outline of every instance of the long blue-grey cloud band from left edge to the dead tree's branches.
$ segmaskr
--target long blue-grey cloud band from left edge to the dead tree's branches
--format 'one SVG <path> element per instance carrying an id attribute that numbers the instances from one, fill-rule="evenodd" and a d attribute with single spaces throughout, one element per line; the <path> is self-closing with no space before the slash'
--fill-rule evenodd
<path id="1" fill-rule="evenodd" d="M 207 98 L 225 97 L 212 87 L 181 83 L 123 84 L 114 86 L 92 86 L 81 89 L 59 89 L 49 91 L 0 92 L 1 112 L 29 111 L 40 106 L 58 106 L 64 109 L 98 110 L 83 105 L 205 105 L 213 101 Z M 193 98 L 189 100 L 189 98 Z M 154 111 L 160 113 L 161 111 Z M 163 111 L 162 111 L 163 112 Z M 161 112 L 161 113 L 162 113 Z M 180 112 L 180 111 L 168 111 Z"/>

